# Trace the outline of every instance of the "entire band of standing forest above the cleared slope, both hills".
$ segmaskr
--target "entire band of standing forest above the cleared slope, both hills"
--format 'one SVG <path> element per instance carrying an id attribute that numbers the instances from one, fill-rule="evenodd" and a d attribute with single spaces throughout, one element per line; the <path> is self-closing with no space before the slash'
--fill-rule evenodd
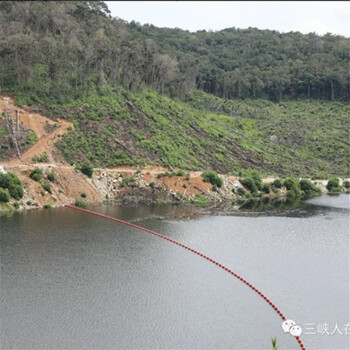
<path id="1" fill-rule="evenodd" d="M 0 89 L 64 101 L 118 85 L 182 97 L 349 99 L 349 39 L 112 18 L 103 2 L 1 2 Z"/>

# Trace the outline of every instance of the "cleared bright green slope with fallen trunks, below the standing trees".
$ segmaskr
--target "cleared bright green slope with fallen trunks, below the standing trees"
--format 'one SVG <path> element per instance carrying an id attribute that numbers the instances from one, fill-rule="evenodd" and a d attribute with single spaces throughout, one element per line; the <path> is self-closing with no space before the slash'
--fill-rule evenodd
<path id="1" fill-rule="evenodd" d="M 119 89 L 64 105 L 46 103 L 46 108 L 51 117 L 75 120 L 77 130 L 57 143 L 72 164 L 89 160 L 101 167 L 162 164 L 234 173 L 255 168 L 265 174 L 348 175 L 345 103 L 231 101 L 200 91 L 184 103 L 151 90 L 131 94 Z"/>

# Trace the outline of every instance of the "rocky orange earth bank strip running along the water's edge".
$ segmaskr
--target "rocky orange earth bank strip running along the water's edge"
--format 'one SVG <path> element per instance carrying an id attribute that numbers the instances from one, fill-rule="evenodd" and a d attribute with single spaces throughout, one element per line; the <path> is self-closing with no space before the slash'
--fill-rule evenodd
<path id="1" fill-rule="evenodd" d="M 136 207 L 153 204 L 192 205 L 195 207 L 231 206 L 251 200 L 286 200 L 285 186 L 274 188 L 271 184 L 276 177 L 259 179 L 261 188 L 256 192 L 243 185 L 242 177 L 217 174 L 222 184 L 218 187 L 206 181 L 201 171 L 183 171 L 160 166 L 147 166 L 142 169 L 134 166 L 116 168 L 94 168 L 91 177 L 70 165 L 59 164 L 0 164 L 0 173 L 12 172 L 23 184 L 23 197 L 0 204 L 0 215 L 15 211 L 61 207 L 80 202 L 81 205 L 101 205 L 110 203 L 120 207 Z M 34 168 L 41 169 L 42 181 L 34 181 L 30 173 Z M 47 174 L 55 175 L 49 182 L 51 193 L 43 189 Z M 216 173 L 215 173 L 216 174 Z M 327 180 L 312 181 L 320 188 L 320 193 L 328 193 Z M 263 191 L 267 185 L 268 193 Z M 237 206 L 237 205 L 236 205 Z"/>

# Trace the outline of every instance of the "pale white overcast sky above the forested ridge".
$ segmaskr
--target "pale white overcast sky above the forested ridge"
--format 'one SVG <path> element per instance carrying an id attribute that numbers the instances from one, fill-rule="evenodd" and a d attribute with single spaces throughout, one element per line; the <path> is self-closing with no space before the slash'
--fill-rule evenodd
<path id="1" fill-rule="evenodd" d="M 350 36 L 346 1 L 106 1 L 113 17 L 157 27 L 249 28 Z"/>

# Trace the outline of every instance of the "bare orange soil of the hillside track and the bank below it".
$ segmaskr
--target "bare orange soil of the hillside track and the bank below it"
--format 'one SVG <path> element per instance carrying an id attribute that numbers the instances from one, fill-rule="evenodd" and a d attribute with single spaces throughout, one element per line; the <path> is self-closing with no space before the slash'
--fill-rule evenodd
<path id="1" fill-rule="evenodd" d="M 0 95 L 0 113 L 6 110 L 3 97 L 4 95 Z M 146 166 L 143 169 L 135 166 L 94 169 L 92 178 L 88 178 L 67 164 L 54 145 L 68 128 L 73 128 L 73 124 L 66 120 L 52 121 L 36 111 L 19 108 L 13 104 L 12 96 L 9 97 L 14 120 L 16 115 L 19 115 L 21 127 L 33 130 L 38 136 L 38 141 L 22 153 L 25 164 L 22 164 L 18 157 L 0 163 L 0 171 L 14 172 L 23 183 L 25 195 L 20 201 L 21 208 L 43 207 L 45 204 L 58 206 L 72 203 L 76 199 L 86 203 L 113 200 L 128 205 L 159 201 L 177 203 L 183 197 L 191 198 L 195 195 L 204 195 L 215 202 L 220 202 L 222 199 L 231 199 L 234 196 L 232 190 L 237 180 L 234 176 L 221 175 L 224 185 L 213 191 L 212 185 L 203 181 L 200 171 L 189 171 L 187 176 L 158 177 L 160 173 L 169 172 L 169 169 L 161 166 Z M 48 155 L 48 163 L 31 164 L 34 156 L 41 156 L 43 153 Z M 48 172 L 56 175 L 57 180 L 51 183 L 52 194 L 44 191 L 40 183 L 29 177 L 35 167 L 43 169 L 43 181 Z M 133 180 L 128 183 L 125 179 L 130 178 Z M 273 180 L 269 178 L 265 181 Z"/>

